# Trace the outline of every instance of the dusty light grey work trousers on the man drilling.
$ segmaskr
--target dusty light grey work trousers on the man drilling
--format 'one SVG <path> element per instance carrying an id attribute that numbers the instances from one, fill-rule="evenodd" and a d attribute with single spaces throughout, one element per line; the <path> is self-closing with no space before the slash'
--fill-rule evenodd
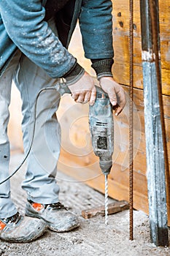
<path id="1" fill-rule="evenodd" d="M 0 180 L 9 176 L 9 103 L 12 79 L 18 87 L 23 101 L 23 145 L 25 154 L 33 136 L 34 107 L 39 90 L 54 86 L 57 80 L 18 52 L 0 78 Z M 39 95 L 36 110 L 34 143 L 27 160 L 26 177 L 22 187 L 28 199 L 38 203 L 58 202 L 59 187 L 55 181 L 60 154 L 61 129 L 55 115 L 60 94 L 55 90 L 43 91 Z M 10 182 L 0 185 L 0 218 L 10 217 L 17 212 L 10 197 Z"/>

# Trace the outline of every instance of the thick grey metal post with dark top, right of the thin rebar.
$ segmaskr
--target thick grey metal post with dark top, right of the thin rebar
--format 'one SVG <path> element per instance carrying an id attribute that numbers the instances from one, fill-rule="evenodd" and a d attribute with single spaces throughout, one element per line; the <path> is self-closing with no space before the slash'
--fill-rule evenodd
<path id="1" fill-rule="evenodd" d="M 165 151 L 163 146 L 163 112 L 160 102 L 161 61 L 158 0 L 154 4 L 155 21 L 150 15 L 150 0 L 140 1 L 142 31 L 142 67 L 144 86 L 144 124 L 147 154 L 147 189 L 150 214 L 150 237 L 156 246 L 169 244 L 166 207 Z M 156 42 L 153 41 L 153 29 Z M 154 44 L 153 44 L 154 43 Z M 156 48 L 153 46 L 156 44 Z M 155 54 L 158 55 L 155 58 Z M 156 60 L 158 64 L 156 64 Z M 160 88 L 158 88 L 160 86 Z"/>

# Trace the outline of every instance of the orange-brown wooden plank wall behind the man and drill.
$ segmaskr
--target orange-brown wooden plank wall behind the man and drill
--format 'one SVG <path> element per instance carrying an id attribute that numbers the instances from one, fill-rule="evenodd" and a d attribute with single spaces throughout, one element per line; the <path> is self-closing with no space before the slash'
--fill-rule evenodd
<path id="1" fill-rule="evenodd" d="M 169 2 L 160 1 L 163 103 L 167 146 L 170 155 L 169 10 Z M 123 84 L 126 91 L 127 104 L 123 113 L 115 117 L 114 165 L 109 174 L 109 196 L 117 200 L 128 200 L 128 1 L 113 1 L 112 15 L 115 49 L 115 64 L 112 72 L 115 80 Z M 74 32 L 69 50 L 77 57 L 79 63 L 90 72 L 90 75 L 95 77 L 93 69 L 90 68 L 90 61 L 84 58 L 78 26 Z M 137 0 L 134 1 L 134 208 L 148 213 L 141 51 L 139 0 Z M 9 137 L 12 141 L 12 148 L 22 148 L 18 91 L 14 91 L 14 94 L 12 94 L 11 112 Z M 16 114 L 18 118 L 15 118 Z M 78 181 L 85 182 L 94 189 L 104 192 L 104 176 L 98 166 L 98 157 L 93 154 L 90 143 L 88 105 L 75 104 L 69 95 L 64 95 L 58 110 L 58 119 L 61 122 L 61 128 L 63 128 L 58 169 Z M 74 186 L 74 184 L 71 185 Z"/>

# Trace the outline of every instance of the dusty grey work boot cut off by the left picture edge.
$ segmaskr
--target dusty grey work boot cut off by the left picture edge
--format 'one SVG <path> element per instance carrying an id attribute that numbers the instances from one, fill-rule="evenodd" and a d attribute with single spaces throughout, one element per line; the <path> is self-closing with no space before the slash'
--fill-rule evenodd
<path id="1" fill-rule="evenodd" d="M 8 242 L 31 242 L 42 236 L 45 230 L 47 230 L 45 222 L 23 217 L 19 212 L 12 217 L 0 219 L 0 238 Z"/>

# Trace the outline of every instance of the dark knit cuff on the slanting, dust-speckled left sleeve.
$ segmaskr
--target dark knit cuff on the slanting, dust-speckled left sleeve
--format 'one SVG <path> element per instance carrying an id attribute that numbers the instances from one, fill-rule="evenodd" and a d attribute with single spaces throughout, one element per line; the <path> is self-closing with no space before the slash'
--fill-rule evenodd
<path id="1" fill-rule="evenodd" d="M 69 70 L 65 75 L 63 75 L 63 78 L 66 80 L 67 86 L 72 86 L 72 84 L 76 83 L 80 78 L 82 78 L 82 75 L 85 74 L 85 69 L 83 69 L 80 64 L 75 62 L 72 69 Z"/>

